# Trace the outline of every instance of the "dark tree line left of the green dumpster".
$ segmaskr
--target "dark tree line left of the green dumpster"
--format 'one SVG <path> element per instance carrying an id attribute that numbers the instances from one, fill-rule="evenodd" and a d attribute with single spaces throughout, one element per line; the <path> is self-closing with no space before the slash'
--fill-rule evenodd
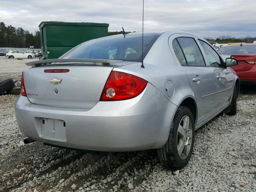
<path id="1" fill-rule="evenodd" d="M 6 26 L 4 22 L 0 22 L 0 47 L 29 48 L 29 46 L 41 48 L 39 31 L 33 34 L 21 27 Z"/>

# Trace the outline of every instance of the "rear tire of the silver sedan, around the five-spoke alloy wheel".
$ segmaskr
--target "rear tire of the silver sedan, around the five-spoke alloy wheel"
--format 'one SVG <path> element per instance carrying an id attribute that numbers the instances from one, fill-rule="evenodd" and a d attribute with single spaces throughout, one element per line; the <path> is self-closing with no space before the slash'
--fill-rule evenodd
<path id="1" fill-rule="evenodd" d="M 190 120 L 188 126 L 186 126 L 185 124 L 185 121 L 187 121 L 187 119 Z M 178 131 L 180 130 L 179 126 L 181 126 L 182 129 L 182 126 L 188 128 L 187 132 L 183 129 L 184 135 L 180 134 L 180 131 Z M 194 138 L 195 125 L 192 112 L 188 107 L 180 106 L 177 109 L 176 114 L 174 115 L 174 118 L 172 120 L 169 137 L 165 146 L 157 149 L 158 157 L 162 164 L 168 166 L 173 170 L 183 168 L 188 163 L 192 155 L 192 151 L 194 148 Z M 183 150 L 182 143 L 184 146 Z M 179 146 L 181 150 L 178 150 Z M 188 149 L 188 152 L 186 151 L 186 149 Z"/>

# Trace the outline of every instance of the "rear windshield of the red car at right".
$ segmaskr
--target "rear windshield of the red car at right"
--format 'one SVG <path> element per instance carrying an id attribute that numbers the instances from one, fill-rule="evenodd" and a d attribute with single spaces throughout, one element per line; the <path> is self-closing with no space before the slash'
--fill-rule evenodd
<path id="1" fill-rule="evenodd" d="M 256 54 L 256 46 L 230 46 L 222 47 L 219 54 Z"/>

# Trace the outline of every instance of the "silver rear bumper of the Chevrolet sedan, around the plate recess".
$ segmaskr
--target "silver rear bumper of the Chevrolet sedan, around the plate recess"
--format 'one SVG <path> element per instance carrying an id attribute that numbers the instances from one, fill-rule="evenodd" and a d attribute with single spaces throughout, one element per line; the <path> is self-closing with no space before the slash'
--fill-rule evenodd
<path id="1" fill-rule="evenodd" d="M 98 102 L 91 109 L 32 104 L 20 96 L 16 118 L 24 135 L 47 144 L 94 151 L 161 148 L 177 106 L 148 83 L 142 94 L 124 101 Z M 40 118 L 66 122 L 66 141 L 43 138 Z"/>

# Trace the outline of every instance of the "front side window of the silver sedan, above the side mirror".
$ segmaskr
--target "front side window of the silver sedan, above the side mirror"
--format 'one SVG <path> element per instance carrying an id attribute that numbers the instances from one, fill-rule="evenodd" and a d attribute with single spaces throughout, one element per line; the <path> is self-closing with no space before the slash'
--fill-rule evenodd
<path id="1" fill-rule="evenodd" d="M 212 46 L 208 45 L 206 42 L 199 40 L 202 45 L 204 52 L 207 56 L 207 60 L 211 67 L 222 67 L 222 62 L 220 60 L 220 56 L 214 51 Z"/>

